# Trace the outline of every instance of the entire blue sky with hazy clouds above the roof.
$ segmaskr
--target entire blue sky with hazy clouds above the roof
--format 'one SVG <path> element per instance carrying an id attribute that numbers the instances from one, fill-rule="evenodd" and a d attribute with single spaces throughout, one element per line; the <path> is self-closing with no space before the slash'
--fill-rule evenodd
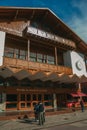
<path id="1" fill-rule="evenodd" d="M 50 8 L 87 42 L 87 0 L 0 0 L 0 6 Z"/>

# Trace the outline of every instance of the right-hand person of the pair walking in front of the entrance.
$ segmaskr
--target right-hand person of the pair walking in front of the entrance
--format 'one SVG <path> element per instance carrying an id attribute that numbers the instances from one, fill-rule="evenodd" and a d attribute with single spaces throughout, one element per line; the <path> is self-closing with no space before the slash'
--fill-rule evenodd
<path id="1" fill-rule="evenodd" d="M 43 125 L 45 122 L 44 105 L 42 102 L 39 103 L 39 125 Z"/>

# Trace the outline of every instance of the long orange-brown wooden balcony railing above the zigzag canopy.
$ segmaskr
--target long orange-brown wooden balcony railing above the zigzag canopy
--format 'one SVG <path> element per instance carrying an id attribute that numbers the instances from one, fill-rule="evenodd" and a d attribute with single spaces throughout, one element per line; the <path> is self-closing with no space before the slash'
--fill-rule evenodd
<path id="1" fill-rule="evenodd" d="M 14 59 L 14 58 L 3 58 L 3 64 L 10 67 L 18 67 L 22 69 L 34 69 L 42 71 L 52 71 L 58 73 L 72 74 L 72 69 L 65 66 L 56 66 L 50 64 L 44 64 L 39 62 L 31 62 L 26 60 Z"/>

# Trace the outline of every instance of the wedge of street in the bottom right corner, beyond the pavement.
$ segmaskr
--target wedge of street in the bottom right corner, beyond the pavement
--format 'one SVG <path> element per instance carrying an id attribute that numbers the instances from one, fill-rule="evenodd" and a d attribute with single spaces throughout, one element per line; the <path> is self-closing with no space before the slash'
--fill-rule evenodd
<path id="1" fill-rule="evenodd" d="M 43 130 L 87 130 L 87 120 L 72 123 L 72 124 L 54 126 Z"/>

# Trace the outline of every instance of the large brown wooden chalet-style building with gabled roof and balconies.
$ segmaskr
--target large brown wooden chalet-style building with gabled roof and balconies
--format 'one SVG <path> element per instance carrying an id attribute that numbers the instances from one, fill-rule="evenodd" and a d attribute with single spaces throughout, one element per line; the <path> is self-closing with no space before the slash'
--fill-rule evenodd
<path id="1" fill-rule="evenodd" d="M 87 45 L 51 10 L 0 8 L 0 110 L 65 107 L 86 83 Z"/>

